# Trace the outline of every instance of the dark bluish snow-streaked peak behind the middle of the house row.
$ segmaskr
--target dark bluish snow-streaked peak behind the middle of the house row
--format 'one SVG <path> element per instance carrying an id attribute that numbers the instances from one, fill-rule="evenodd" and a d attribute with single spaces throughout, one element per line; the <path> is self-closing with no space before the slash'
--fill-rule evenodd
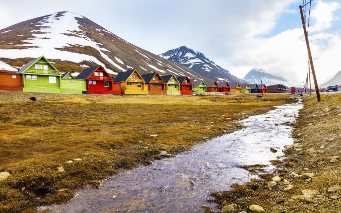
<path id="1" fill-rule="evenodd" d="M 194 51 L 186 46 L 179 47 L 174 50 L 169 50 L 159 56 L 175 62 L 179 65 L 186 66 L 206 78 L 212 80 L 222 81 L 227 80 L 229 82 L 245 82 L 244 80 L 232 75 L 229 71 L 216 65 L 211 60 L 207 59 L 204 54 Z"/>

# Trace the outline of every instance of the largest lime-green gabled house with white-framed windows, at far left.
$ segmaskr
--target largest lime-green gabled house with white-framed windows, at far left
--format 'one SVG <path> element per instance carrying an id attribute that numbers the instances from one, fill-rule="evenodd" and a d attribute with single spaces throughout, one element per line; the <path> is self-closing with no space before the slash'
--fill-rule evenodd
<path id="1" fill-rule="evenodd" d="M 23 92 L 60 93 L 62 74 L 44 57 L 34 59 L 18 72 Z"/>

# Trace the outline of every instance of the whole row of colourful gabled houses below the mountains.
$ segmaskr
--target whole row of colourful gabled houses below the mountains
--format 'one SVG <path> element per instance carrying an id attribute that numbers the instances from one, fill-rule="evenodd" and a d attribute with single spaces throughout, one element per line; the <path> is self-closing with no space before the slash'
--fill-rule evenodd
<path id="1" fill-rule="evenodd" d="M 16 73 L 0 73 L 0 90 L 65 94 L 161 94 L 192 95 L 200 92 L 267 93 L 265 84 L 192 82 L 188 76 L 139 74 L 130 70 L 111 76 L 98 65 L 74 77 L 59 72 L 44 56 L 34 59 Z M 263 91 L 262 91 L 263 90 Z"/>

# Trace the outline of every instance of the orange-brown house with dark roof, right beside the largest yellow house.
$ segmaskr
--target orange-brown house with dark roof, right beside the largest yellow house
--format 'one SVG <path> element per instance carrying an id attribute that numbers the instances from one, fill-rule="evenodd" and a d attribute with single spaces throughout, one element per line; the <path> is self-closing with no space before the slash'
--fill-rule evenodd
<path id="1" fill-rule="evenodd" d="M 162 80 L 158 72 L 149 74 L 142 74 L 141 77 L 148 85 L 149 95 L 166 95 L 167 90 L 165 88 L 165 82 Z"/>

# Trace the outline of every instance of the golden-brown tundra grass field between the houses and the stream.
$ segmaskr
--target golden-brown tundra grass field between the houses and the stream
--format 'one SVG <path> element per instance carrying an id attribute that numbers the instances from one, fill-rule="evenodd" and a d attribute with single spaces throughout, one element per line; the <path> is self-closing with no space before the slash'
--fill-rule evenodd
<path id="1" fill-rule="evenodd" d="M 37 101 L 30 101 L 29 97 Z M 240 129 L 288 95 L 83 96 L 0 92 L 0 212 L 67 202 L 119 169 Z"/>

